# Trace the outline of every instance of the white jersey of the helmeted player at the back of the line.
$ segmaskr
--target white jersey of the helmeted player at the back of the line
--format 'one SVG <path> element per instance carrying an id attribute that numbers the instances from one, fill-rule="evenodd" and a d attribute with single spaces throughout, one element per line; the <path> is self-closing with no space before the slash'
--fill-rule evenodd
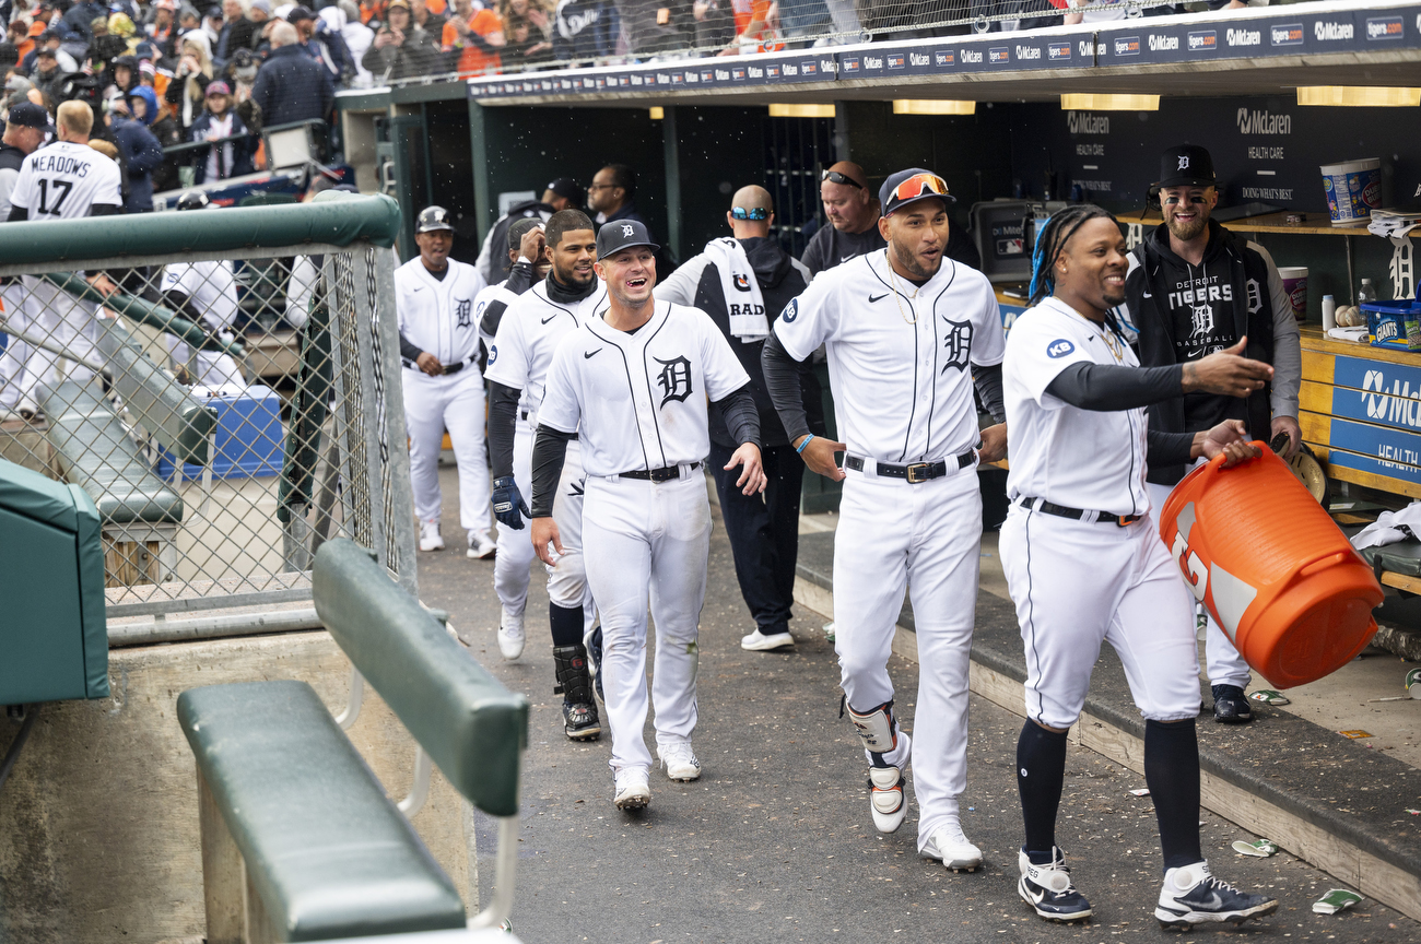
<path id="1" fill-rule="evenodd" d="M 439 363 L 458 363 L 479 353 L 479 294 L 473 265 L 449 260 L 445 277 L 435 278 L 418 256 L 395 270 L 399 334 Z"/>

